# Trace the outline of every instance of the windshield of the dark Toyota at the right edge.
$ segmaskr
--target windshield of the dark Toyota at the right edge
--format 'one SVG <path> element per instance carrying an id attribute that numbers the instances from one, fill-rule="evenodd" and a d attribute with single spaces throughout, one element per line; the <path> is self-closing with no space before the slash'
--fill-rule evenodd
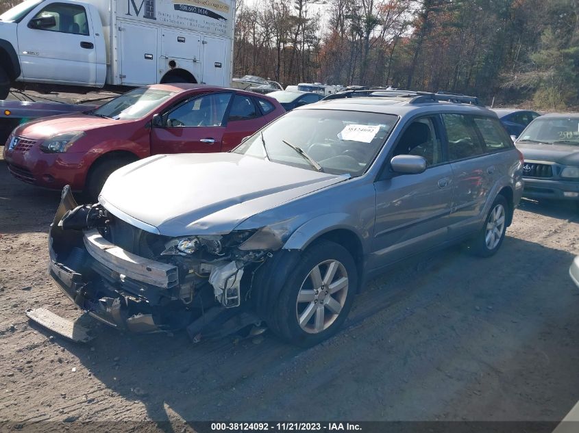
<path id="1" fill-rule="evenodd" d="M 537 118 L 523 131 L 518 141 L 579 146 L 579 117 Z"/>

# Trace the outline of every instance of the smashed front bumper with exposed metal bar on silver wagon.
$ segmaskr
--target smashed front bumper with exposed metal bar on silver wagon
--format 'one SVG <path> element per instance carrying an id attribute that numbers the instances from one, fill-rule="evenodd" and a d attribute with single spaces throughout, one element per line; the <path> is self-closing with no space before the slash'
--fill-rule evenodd
<path id="1" fill-rule="evenodd" d="M 177 268 L 126 252 L 96 230 L 63 230 L 59 222 L 75 207 L 66 187 L 49 232 L 49 273 L 64 294 L 115 328 L 156 332 L 190 323 L 193 313 L 167 294 L 177 285 Z"/>

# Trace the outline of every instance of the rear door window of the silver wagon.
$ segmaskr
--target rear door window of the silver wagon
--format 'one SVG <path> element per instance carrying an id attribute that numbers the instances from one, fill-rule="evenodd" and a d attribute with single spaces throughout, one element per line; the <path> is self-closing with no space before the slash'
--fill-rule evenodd
<path id="1" fill-rule="evenodd" d="M 472 120 L 463 114 L 443 114 L 444 126 L 448 138 L 448 156 L 450 161 L 472 158 L 486 153 L 480 142 Z"/>

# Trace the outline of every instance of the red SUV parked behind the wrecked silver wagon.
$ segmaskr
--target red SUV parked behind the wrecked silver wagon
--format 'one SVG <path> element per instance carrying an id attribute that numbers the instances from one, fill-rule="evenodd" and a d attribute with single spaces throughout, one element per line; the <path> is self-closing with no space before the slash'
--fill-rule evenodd
<path id="1" fill-rule="evenodd" d="M 136 88 L 84 114 L 14 129 L 4 148 L 21 181 L 95 198 L 108 175 L 158 153 L 226 152 L 285 113 L 273 98 L 194 84 Z"/>

